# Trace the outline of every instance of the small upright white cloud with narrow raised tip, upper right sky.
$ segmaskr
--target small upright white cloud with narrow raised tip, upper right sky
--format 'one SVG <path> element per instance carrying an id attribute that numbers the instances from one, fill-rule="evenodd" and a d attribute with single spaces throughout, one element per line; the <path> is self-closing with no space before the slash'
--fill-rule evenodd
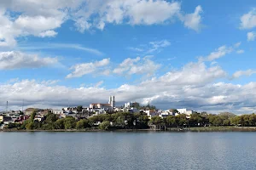
<path id="1" fill-rule="evenodd" d="M 183 17 L 183 22 L 186 27 L 189 29 L 200 31 L 201 29 L 201 13 L 202 13 L 201 6 L 197 6 L 195 8 L 195 12 L 192 14 L 185 14 Z"/>

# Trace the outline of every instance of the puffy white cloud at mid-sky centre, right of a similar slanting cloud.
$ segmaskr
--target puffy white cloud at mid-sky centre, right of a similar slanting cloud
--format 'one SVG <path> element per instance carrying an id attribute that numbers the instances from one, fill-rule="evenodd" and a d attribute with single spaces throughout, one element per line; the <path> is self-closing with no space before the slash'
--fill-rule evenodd
<path id="1" fill-rule="evenodd" d="M 154 72 L 160 68 L 160 65 L 154 63 L 154 61 L 144 57 L 141 59 L 125 59 L 117 68 L 113 70 L 113 73 L 119 75 L 146 75 L 148 77 L 154 75 Z"/>

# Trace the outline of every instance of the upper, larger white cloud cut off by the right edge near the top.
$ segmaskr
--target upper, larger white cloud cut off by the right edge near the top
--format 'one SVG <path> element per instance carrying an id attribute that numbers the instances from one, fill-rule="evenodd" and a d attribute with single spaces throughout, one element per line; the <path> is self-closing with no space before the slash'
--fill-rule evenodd
<path id="1" fill-rule="evenodd" d="M 256 9 L 249 11 L 247 14 L 243 14 L 240 18 L 241 29 L 251 29 L 256 26 Z"/>

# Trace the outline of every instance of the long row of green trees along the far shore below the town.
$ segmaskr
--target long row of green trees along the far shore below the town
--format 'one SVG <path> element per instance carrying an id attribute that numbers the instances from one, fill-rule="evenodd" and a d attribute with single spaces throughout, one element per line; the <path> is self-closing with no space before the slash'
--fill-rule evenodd
<path id="1" fill-rule="evenodd" d="M 256 126 L 256 115 L 236 116 L 231 113 L 218 115 L 207 113 L 194 113 L 188 119 L 186 115 L 167 116 L 161 118 L 154 116 L 150 120 L 144 113 L 119 112 L 91 116 L 88 119 L 76 120 L 72 116 L 59 119 L 55 114 L 48 113 L 43 122 L 35 121 L 36 112 L 33 111 L 30 119 L 22 124 L 9 124 L 8 128 L 16 127 L 24 130 L 54 130 L 54 129 L 143 129 L 148 125 L 160 125 L 165 127 L 204 127 L 204 126 Z M 100 122 L 100 123 L 99 123 Z"/>

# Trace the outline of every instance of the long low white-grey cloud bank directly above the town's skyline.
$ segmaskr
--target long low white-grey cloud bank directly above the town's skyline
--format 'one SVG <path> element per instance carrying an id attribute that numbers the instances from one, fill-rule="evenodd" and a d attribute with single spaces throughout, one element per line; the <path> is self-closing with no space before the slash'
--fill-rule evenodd
<path id="1" fill-rule="evenodd" d="M 256 82 L 245 85 L 218 82 L 223 77 L 226 73 L 218 66 L 189 63 L 162 77 L 110 89 L 99 88 L 97 85 L 102 82 L 94 87 L 67 88 L 47 81 L 16 80 L 0 84 L 0 104 L 4 108 L 4 103 L 9 100 L 12 108 L 20 108 L 24 99 L 26 107 L 61 108 L 68 103 L 86 106 L 93 102 L 108 102 L 108 96 L 115 94 L 118 105 L 131 100 L 146 104 L 149 100 L 161 109 L 187 107 L 213 113 L 255 111 Z"/>

